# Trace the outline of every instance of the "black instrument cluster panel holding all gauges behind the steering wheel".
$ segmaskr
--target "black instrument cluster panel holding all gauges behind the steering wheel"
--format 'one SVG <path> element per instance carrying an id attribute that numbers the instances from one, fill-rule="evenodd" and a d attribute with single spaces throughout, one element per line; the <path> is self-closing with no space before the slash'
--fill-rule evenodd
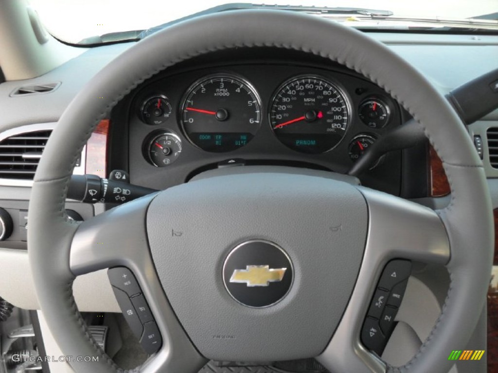
<path id="1" fill-rule="evenodd" d="M 237 165 L 346 174 L 406 118 L 380 87 L 319 57 L 273 48 L 218 52 L 159 74 L 122 100 L 111 116 L 111 164 L 157 189 Z M 401 163 L 400 151 L 389 153 L 362 182 L 399 194 Z"/>

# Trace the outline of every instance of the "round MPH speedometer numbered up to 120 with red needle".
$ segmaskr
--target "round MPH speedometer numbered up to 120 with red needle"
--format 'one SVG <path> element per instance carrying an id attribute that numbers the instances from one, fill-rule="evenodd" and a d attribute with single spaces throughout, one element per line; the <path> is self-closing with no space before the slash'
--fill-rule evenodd
<path id="1" fill-rule="evenodd" d="M 349 104 L 341 89 L 315 76 L 285 82 L 270 109 L 276 137 L 289 148 L 310 154 L 334 148 L 344 137 L 349 118 Z"/>

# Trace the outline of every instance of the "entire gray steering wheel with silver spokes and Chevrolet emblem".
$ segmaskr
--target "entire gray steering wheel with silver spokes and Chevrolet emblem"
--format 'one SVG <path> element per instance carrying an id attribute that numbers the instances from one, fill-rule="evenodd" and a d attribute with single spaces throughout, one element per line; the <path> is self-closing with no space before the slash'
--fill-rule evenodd
<path id="1" fill-rule="evenodd" d="M 443 161 L 449 205 L 434 211 L 338 178 L 256 169 L 172 187 L 82 223 L 68 220 L 64 203 L 76 159 L 124 95 L 194 56 L 263 46 L 328 58 L 396 98 L 425 127 Z M 331 372 L 447 372 L 449 353 L 468 342 L 486 299 L 491 206 L 483 165 L 456 113 L 383 44 L 315 16 L 227 11 L 177 23 L 136 43 L 74 98 L 35 175 L 28 252 L 41 310 L 63 353 L 99 358 L 73 362 L 76 372 L 121 371 L 90 336 L 72 296 L 76 276 L 116 266 L 136 277 L 162 336 L 158 352 L 134 371 L 194 373 L 207 359 L 316 357 Z M 286 293 L 263 307 L 240 304 L 241 295 L 227 291 L 224 271 L 261 262 L 268 245 L 288 260 Z M 228 263 L 234 253 L 238 263 Z M 393 258 L 444 265 L 451 281 L 429 337 L 398 368 L 360 342 L 376 283 Z M 266 259 L 258 268 L 274 258 Z M 264 292 L 264 286 L 247 288 L 252 295 Z"/>

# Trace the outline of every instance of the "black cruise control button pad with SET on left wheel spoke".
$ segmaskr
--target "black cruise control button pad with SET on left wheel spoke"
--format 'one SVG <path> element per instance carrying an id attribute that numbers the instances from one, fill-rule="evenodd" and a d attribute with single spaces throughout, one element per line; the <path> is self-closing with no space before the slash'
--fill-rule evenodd
<path id="1" fill-rule="evenodd" d="M 107 276 L 124 319 L 140 345 L 149 355 L 157 352 L 162 344 L 161 334 L 138 281 L 126 267 L 111 268 Z"/>

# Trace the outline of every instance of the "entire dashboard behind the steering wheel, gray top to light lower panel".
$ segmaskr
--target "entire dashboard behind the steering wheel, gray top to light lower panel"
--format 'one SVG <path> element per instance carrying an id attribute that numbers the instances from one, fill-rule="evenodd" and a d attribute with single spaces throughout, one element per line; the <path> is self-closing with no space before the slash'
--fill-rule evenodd
<path id="1" fill-rule="evenodd" d="M 493 36 L 371 36 L 422 71 L 442 93 L 495 68 L 498 58 L 498 40 Z M 10 131 L 24 133 L 21 129 L 26 125 L 45 123 L 44 129 L 55 127 L 85 84 L 131 44 L 81 49 L 80 55 L 43 76 L 0 84 L 4 108 L 1 138 L 12 135 Z M 19 86 L 56 82 L 61 84 L 51 93 L 11 96 Z M 346 174 L 362 148 L 408 119 L 409 114 L 382 88 L 318 56 L 273 48 L 213 52 L 178 64 L 124 93 L 106 122 L 110 123 L 109 130 L 103 126 L 100 133 L 94 133 L 100 145 L 94 146 L 91 141 L 87 144 L 81 172 L 107 177 L 111 170 L 125 170 L 132 184 L 155 189 L 188 182 L 204 171 L 240 165 L 291 166 Z M 488 147 L 488 131 L 495 127 L 497 111 L 469 126 L 469 132 L 484 141 L 483 162 L 497 208 L 498 170 L 490 163 Z M 93 162 L 95 157 L 100 162 Z M 393 151 L 359 179 L 367 187 L 405 198 L 427 197 L 432 172 L 428 162 L 428 144 Z M 444 176 L 442 168 L 440 172 Z M 0 286 L 5 298 L 35 309 L 38 304 L 32 279 L 26 276 L 29 264 L 20 229 L 25 227 L 22 219 L 29 193 L 29 181 L 9 184 L 0 179 L 1 206 L 15 222 L 11 239 L 2 242 L 0 268 L 4 276 Z M 423 202 L 440 207 L 448 199 L 427 198 Z M 66 205 L 85 220 L 111 207 L 75 202 Z M 497 278 L 490 287 L 495 289 L 493 299 Z M 105 274 L 78 281 L 75 298 L 80 309 L 119 311 L 112 290 L 102 285 L 107 281 Z M 99 294 L 94 291 L 96 286 L 100 286 Z M 24 291 L 19 292 L 19 288 Z"/>

